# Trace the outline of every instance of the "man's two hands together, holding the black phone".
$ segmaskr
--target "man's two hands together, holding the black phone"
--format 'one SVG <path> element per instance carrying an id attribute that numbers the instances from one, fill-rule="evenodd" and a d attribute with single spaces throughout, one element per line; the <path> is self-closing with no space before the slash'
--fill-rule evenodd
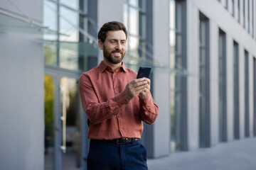
<path id="1" fill-rule="evenodd" d="M 149 96 L 150 79 L 140 78 L 130 81 L 124 89 L 124 96 L 127 101 L 132 100 L 139 94 L 139 97 L 145 99 Z"/>

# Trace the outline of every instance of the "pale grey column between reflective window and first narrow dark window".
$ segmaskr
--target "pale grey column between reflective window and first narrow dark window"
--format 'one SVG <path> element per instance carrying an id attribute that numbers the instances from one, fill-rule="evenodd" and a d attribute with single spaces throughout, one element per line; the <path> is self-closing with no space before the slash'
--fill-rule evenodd
<path id="1" fill-rule="evenodd" d="M 187 1 L 188 149 L 199 147 L 199 11 Z"/>

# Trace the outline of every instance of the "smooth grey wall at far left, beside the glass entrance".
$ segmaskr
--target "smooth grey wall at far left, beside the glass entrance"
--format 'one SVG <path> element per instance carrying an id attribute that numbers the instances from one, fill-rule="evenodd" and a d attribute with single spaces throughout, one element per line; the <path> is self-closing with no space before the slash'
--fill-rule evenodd
<path id="1" fill-rule="evenodd" d="M 18 8 L 9 1 L 0 6 L 43 20 L 42 0 L 12 2 Z M 43 44 L 36 41 L 40 34 L 28 32 L 0 33 L 0 169 L 5 170 L 43 169 Z"/>

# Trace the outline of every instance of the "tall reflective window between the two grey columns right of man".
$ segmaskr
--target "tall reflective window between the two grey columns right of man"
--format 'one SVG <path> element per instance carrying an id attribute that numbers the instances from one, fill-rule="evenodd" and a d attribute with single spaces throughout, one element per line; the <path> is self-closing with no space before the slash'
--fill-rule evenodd
<path id="1" fill-rule="evenodd" d="M 185 1 L 169 1 L 169 47 L 170 67 L 175 72 L 170 75 L 171 91 L 171 152 L 186 150 L 186 19 Z"/>

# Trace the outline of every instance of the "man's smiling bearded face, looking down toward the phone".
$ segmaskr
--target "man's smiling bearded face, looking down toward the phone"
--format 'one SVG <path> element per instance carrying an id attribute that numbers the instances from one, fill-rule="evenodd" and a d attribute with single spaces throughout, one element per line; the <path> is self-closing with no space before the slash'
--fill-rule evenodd
<path id="1" fill-rule="evenodd" d="M 107 32 L 105 42 L 99 40 L 99 47 L 104 57 L 112 64 L 122 62 L 126 52 L 126 35 L 123 30 L 110 30 Z"/>

